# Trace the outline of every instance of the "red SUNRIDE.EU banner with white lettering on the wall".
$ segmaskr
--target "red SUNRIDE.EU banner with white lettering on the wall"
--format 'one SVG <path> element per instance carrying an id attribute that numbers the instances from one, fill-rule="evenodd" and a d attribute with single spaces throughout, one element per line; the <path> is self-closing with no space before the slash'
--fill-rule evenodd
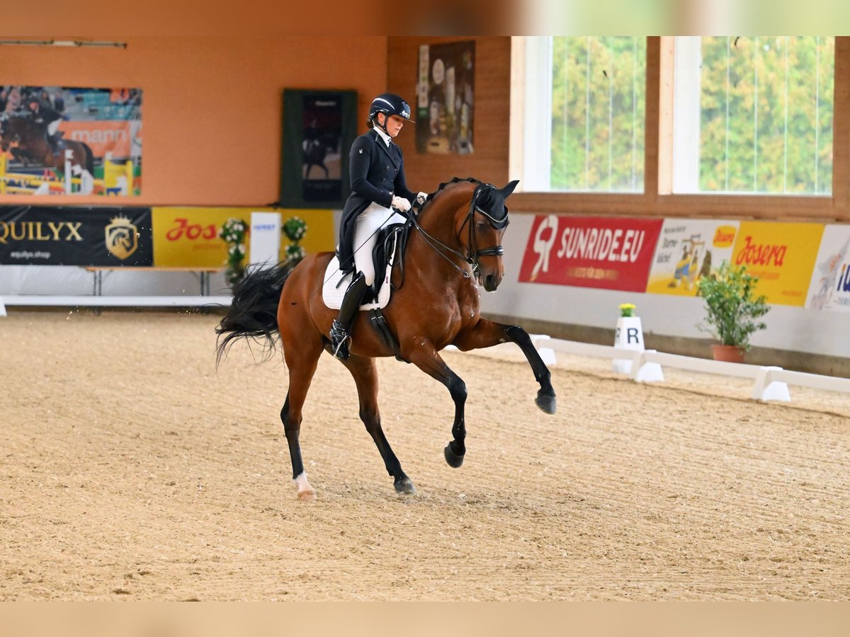
<path id="1" fill-rule="evenodd" d="M 643 292 L 661 223 L 539 215 L 531 226 L 519 281 Z"/>

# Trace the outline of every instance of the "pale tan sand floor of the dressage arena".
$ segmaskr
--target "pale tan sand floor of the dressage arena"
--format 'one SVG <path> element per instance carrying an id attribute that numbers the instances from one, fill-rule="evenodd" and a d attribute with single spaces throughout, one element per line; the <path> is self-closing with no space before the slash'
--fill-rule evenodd
<path id="1" fill-rule="evenodd" d="M 323 355 L 298 502 L 278 354 L 218 369 L 218 316 L 0 318 L 0 600 L 847 600 L 850 398 L 675 374 L 638 385 L 559 359 L 558 414 L 513 352 L 445 352 L 453 406 L 379 361 L 384 430 L 418 494 L 394 493 Z M 502 347 L 501 349 L 504 349 Z"/>

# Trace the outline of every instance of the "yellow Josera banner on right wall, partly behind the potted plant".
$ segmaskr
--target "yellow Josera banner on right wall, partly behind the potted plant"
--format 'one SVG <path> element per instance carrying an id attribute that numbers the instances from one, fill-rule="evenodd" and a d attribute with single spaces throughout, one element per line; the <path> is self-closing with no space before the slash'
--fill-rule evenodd
<path id="1" fill-rule="evenodd" d="M 732 262 L 758 277 L 768 303 L 802 307 L 823 234 L 819 223 L 743 221 Z"/>

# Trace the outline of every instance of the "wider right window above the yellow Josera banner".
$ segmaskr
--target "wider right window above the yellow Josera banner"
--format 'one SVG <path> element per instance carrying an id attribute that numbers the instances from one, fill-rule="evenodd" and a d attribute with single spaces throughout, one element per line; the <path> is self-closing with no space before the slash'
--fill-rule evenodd
<path id="1" fill-rule="evenodd" d="M 834 37 L 677 37 L 673 191 L 832 192 Z"/>

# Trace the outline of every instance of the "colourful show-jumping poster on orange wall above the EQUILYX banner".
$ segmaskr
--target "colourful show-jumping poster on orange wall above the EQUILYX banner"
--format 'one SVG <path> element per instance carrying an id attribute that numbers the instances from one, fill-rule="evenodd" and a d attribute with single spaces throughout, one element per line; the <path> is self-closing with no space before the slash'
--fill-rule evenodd
<path id="1" fill-rule="evenodd" d="M 141 89 L 0 85 L 0 194 L 141 188 Z"/>

